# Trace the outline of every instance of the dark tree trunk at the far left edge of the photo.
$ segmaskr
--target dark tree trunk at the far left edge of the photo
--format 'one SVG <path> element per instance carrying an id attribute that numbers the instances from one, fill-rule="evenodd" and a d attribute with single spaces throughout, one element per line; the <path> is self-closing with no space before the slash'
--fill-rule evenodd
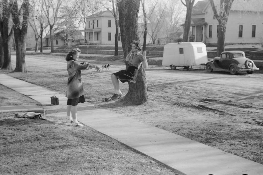
<path id="1" fill-rule="evenodd" d="M 11 21 L 11 8 L 12 1 L 9 3 L 8 0 L 0 2 L 0 32 L 1 32 L 1 51 L 3 52 L 1 68 L 12 70 L 11 65 L 11 52 L 10 52 L 10 40 L 13 35 L 13 23 Z"/>

